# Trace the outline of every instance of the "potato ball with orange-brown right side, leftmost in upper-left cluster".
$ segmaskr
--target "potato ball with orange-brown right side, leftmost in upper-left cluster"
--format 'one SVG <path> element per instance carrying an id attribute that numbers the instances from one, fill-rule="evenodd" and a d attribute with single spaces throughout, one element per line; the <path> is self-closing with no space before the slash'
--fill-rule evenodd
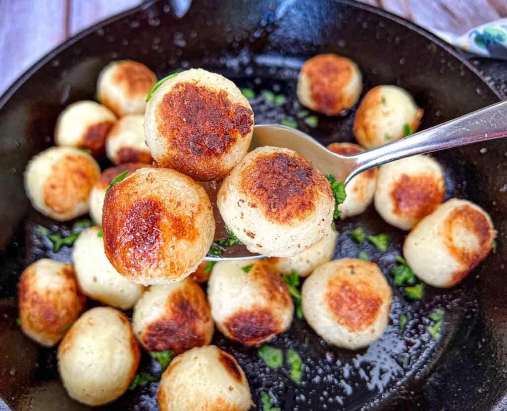
<path id="1" fill-rule="evenodd" d="M 31 205 L 44 215 L 68 221 L 88 212 L 88 198 L 100 176 L 92 156 L 73 147 L 50 147 L 26 166 L 24 185 Z"/>

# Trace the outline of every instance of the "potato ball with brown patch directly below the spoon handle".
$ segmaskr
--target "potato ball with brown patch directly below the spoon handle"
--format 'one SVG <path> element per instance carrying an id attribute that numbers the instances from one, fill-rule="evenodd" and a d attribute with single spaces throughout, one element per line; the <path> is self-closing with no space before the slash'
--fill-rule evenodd
<path id="1" fill-rule="evenodd" d="M 391 226 L 412 229 L 442 204 L 444 197 L 444 172 L 431 157 L 408 157 L 379 168 L 375 208 Z"/>

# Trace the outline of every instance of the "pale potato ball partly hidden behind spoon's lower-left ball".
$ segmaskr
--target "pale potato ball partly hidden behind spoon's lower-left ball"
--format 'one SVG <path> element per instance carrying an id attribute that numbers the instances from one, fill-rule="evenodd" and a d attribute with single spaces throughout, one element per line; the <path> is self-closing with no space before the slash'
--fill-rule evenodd
<path id="1" fill-rule="evenodd" d="M 72 259 L 79 286 L 93 300 L 121 310 L 132 308 L 144 292 L 141 284 L 122 276 L 104 252 L 104 240 L 98 227 L 84 230 L 74 243 Z"/>

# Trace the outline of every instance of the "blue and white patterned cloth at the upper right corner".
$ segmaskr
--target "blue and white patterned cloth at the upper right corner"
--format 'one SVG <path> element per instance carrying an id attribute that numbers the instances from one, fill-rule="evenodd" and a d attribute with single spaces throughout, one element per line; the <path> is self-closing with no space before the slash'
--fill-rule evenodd
<path id="1" fill-rule="evenodd" d="M 507 19 L 483 24 L 461 35 L 434 29 L 431 31 L 447 43 L 468 53 L 507 60 Z"/>

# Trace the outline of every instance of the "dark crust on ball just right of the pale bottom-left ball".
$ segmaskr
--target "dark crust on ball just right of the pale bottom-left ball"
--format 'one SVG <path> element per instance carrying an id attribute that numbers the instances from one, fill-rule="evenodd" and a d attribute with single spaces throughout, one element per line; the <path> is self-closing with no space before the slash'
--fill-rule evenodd
<path id="1" fill-rule="evenodd" d="M 173 350 L 180 354 L 209 343 L 210 311 L 204 291 L 188 281 L 170 294 L 164 316 L 148 325 L 142 341 L 149 351 Z"/>

